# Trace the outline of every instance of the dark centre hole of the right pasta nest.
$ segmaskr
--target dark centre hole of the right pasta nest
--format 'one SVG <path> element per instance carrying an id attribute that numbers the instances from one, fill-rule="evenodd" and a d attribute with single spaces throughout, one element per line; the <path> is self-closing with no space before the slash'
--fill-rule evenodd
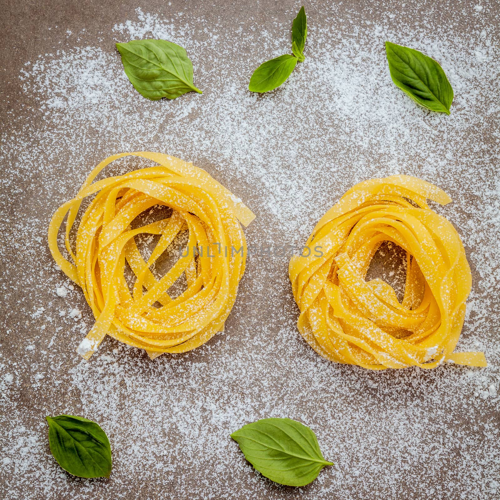
<path id="1" fill-rule="evenodd" d="M 366 273 L 366 281 L 375 278 L 392 286 L 401 302 L 406 282 L 406 251 L 391 241 L 384 241 L 373 255 Z"/>

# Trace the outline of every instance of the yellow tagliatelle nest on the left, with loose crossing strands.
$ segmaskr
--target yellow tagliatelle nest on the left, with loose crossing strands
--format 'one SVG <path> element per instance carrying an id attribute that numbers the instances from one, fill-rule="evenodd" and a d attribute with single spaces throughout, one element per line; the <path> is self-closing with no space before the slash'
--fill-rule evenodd
<path id="1" fill-rule="evenodd" d="M 156 164 L 92 182 L 109 163 L 138 156 Z M 82 200 L 93 197 L 71 241 L 71 227 Z M 155 205 L 171 215 L 131 227 Z M 57 246 L 66 218 L 68 259 Z M 106 334 L 141 347 L 151 358 L 163 352 L 185 352 L 221 331 L 236 298 L 246 259 L 243 225 L 254 214 L 207 172 L 179 158 L 153 152 L 120 153 L 95 167 L 76 196 L 60 206 L 48 228 L 54 260 L 77 283 L 95 316 L 95 324 L 78 348 L 88 359 Z M 151 267 L 180 231 L 188 230 L 186 251 L 160 278 Z M 144 260 L 134 237 L 159 235 Z M 125 262 L 135 276 L 125 277 Z M 187 287 L 176 297 L 168 289 L 185 274 Z"/>

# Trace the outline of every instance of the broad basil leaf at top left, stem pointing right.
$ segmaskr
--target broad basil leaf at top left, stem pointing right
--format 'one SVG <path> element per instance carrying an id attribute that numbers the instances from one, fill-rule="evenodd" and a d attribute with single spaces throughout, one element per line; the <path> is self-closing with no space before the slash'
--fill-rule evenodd
<path id="1" fill-rule="evenodd" d="M 166 40 L 116 43 L 130 83 L 144 97 L 158 100 L 201 90 L 192 82 L 192 62 L 186 51 Z"/>

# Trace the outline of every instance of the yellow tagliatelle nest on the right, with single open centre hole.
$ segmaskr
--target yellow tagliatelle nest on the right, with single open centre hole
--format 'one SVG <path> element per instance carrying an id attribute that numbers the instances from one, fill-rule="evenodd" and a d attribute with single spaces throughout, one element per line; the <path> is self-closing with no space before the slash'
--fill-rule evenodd
<path id="1" fill-rule="evenodd" d="M 443 361 L 486 366 L 482 352 L 453 352 L 470 292 L 470 268 L 452 224 L 426 200 L 451 199 L 407 175 L 350 188 L 293 256 L 289 276 L 298 329 L 319 354 L 369 369 L 433 368 Z M 404 297 L 381 279 L 366 281 L 383 241 L 406 252 Z"/>

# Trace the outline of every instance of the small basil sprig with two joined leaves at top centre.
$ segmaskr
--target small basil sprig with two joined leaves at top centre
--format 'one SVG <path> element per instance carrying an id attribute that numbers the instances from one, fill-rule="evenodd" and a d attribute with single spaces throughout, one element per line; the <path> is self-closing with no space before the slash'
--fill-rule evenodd
<path id="1" fill-rule="evenodd" d="M 248 83 L 250 92 L 268 92 L 284 83 L 293 71 L 297 61 L 304 60 L 305 38 L 307 37 L 307 19 L 302 5 L 291 25 L 291 51 L 263 62 L 253 71 Z"/>

